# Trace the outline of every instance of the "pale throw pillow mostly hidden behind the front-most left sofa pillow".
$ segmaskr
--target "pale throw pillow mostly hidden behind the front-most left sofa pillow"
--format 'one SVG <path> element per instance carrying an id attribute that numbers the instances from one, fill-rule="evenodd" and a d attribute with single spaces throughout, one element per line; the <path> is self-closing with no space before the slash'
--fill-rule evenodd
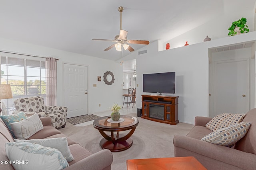
<path id="1" fill-rule="evenodd" d="M 73 155 L 68 147 L 68 141 L 66 137 L 50 138 L 50 139 L 30 139 L 30 140 L 20 140 L 14 139 L 14 142 L 22 141 L 29 143 L 36 143 L 44 147 L 51 147 L 58 149 L 62 155 L 66 158 L 68 162 L 74 160 Z"/>

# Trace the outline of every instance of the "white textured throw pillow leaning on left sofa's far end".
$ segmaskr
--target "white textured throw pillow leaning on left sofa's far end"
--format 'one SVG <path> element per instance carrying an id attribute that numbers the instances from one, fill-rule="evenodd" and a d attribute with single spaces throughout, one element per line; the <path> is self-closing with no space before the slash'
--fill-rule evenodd
<path id="1" fill-rule="evenodd" d="M 10 123 L 15 139 L 28 139 L 36 132 L 44 129 L 37 113 L 19 122 Z"/>

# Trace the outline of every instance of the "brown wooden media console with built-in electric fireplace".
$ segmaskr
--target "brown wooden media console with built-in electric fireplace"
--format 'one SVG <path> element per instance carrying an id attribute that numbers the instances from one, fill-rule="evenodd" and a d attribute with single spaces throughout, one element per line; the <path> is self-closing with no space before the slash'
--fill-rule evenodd
<path id="1" fill-rule="evenodd" d="M 177 125 L 178 120 L 178 97 L 162 95 L 141 95 L 142 116 L 141 118 Z"/>

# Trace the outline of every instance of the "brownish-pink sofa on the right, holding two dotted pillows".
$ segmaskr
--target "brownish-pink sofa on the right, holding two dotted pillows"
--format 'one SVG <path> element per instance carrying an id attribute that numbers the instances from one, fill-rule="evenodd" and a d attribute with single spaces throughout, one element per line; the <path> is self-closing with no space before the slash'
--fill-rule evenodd
<path id="1" fill-rule="evenodd" d="M 256 169 L 256 109 L 246 113 L 243 122 L 250 122 L 250 129 L 232 148 L 201 141 L 212 133 L 206 128 L 212 118 L 195 117 L 195 126 L 186 135 L 174 136 L 174 156 L 194 156 L 208 170 Z"/>

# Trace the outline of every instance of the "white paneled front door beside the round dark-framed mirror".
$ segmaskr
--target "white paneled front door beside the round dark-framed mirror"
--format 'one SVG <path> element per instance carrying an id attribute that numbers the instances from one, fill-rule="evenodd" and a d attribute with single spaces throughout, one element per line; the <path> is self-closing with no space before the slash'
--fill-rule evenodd
<path id="1" fill-rule="evenodd" d="M 64 106 L 67 117 L 88 114 L 87 66 L 64 64 Z"/>

